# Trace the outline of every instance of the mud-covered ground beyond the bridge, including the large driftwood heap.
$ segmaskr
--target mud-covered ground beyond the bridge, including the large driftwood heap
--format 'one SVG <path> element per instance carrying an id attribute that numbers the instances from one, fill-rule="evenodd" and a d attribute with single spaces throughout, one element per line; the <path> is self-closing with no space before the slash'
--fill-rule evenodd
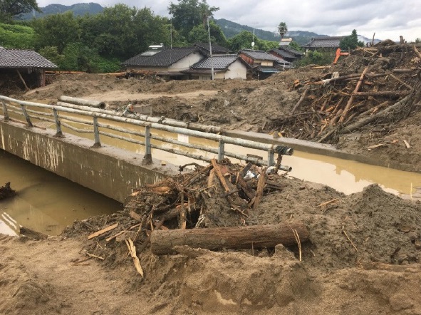
<path id="1" fill-rule="evenodd" d="M 153 76 L 127 80 L 62 74 L 52 76 L 49 81 L 53 83 L 45 88 L 18 96 L 54 101 L 69 95 L 103 100 L 110 108 L 129 103 L 152 105 L 155 116 L 331 143 L 346 152 L 382 160 L 384 165 L 393 161 L 402 170 L 420 172 L 421 55 L 413 45 L 396 46 L 388 41 L 367 49 L 381 52 L 372 56 L 373 50 L 355 51 L 336 66 L 296 68 L 264 81 L 165 82 Z M 421 46 L 415 49 L 419 52 Z M 343 114 L 365 68 L 358 92 L 368 95 L 355 95 Z M 323 79 L 353 75 L 320 84 Z M 293 110 L 301 98 L 300 106 Z M 403 106 L 383 113 L 404 98 Z M 370 117 L 375 119 L 348 132 L 348 127 Z"/>

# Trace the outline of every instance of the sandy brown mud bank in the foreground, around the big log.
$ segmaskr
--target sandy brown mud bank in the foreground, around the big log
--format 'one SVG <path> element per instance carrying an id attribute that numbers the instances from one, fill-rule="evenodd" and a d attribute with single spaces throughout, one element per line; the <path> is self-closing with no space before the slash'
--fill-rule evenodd
<path id="1" fill-rule="evenodd" d="M 215 195 L 220 224 L 304 222 L 309 242 L 233 251 L 142 251 L 141 215 L 162 195 L 142 194 L 115 215 L 75 222 L 61 237 L 1 237 L 2 314 L 421 314 L 421 204 L 371 185 L 345 196 L 279 177 L 244 217 Z M 143 200 L 143 201 L 142 201 Z M 148 203 L 149 202 L 149 203 Z M 217 212 L 213 212 L 214 215 Z M 187 215 L 187 220 L 192 220 Z M 118 228 L 88 235 L 118 222 Z M 175 220 L 177 222 L 177 220 Z M 171 224 L 167 224 L 170 226 Z M 127 229 L 124 235 L 108 237 Z M 147 227 L 146 227 L 147 229 Z M 125 244 L 135 242 L 145 277 Z M 89 310 L 88 313 L 86 310 Z"/>

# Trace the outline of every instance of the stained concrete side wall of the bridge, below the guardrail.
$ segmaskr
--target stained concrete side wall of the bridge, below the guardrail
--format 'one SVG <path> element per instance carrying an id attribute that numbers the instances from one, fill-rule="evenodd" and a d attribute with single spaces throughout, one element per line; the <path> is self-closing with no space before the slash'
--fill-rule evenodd
<path id="1" fill-rule="evenodd" d="M 27 128 L 2 118 L 1 149 L 119 202 L 124 202 L 132 188 L 176 172 L 175 165 L 161 167 L 156 160 L 152 166 L 143 166 L 143 156 L 130 151 L 91 148 L 93 140 L 74 135 L 56 138 L 54 130 Z"/>

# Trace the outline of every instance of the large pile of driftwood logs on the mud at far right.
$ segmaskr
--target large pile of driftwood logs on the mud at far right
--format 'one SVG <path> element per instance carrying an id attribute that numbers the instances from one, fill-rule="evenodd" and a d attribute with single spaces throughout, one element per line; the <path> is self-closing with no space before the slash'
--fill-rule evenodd
<path id="1" fill-rule="evenodd" d="M 384 41 L 356 49 L 322 77 L 295 81 L 301 98 L 289 115 L 266 123 L 267 131 L 335 142 L 335 135 L 406 118 L 421 101 L 420 50 Z"/>

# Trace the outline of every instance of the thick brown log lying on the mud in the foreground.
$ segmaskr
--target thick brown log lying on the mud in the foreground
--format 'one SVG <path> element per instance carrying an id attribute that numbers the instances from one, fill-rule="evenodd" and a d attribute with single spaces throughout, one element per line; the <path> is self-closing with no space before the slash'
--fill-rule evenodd
<path id="1" fill-rule="evenodd" d="M 150 249 L 153 254 L 162 255 L 176 253 L 174 248 L 180 245 L 212 250 L 275 247 L 277 244 L 291 246 L 296 244 L 294 231 L 301 242 L 309 237 L 308 230 L 302 223 L 167 231 L 155 229 L 150 237 Z"/>

